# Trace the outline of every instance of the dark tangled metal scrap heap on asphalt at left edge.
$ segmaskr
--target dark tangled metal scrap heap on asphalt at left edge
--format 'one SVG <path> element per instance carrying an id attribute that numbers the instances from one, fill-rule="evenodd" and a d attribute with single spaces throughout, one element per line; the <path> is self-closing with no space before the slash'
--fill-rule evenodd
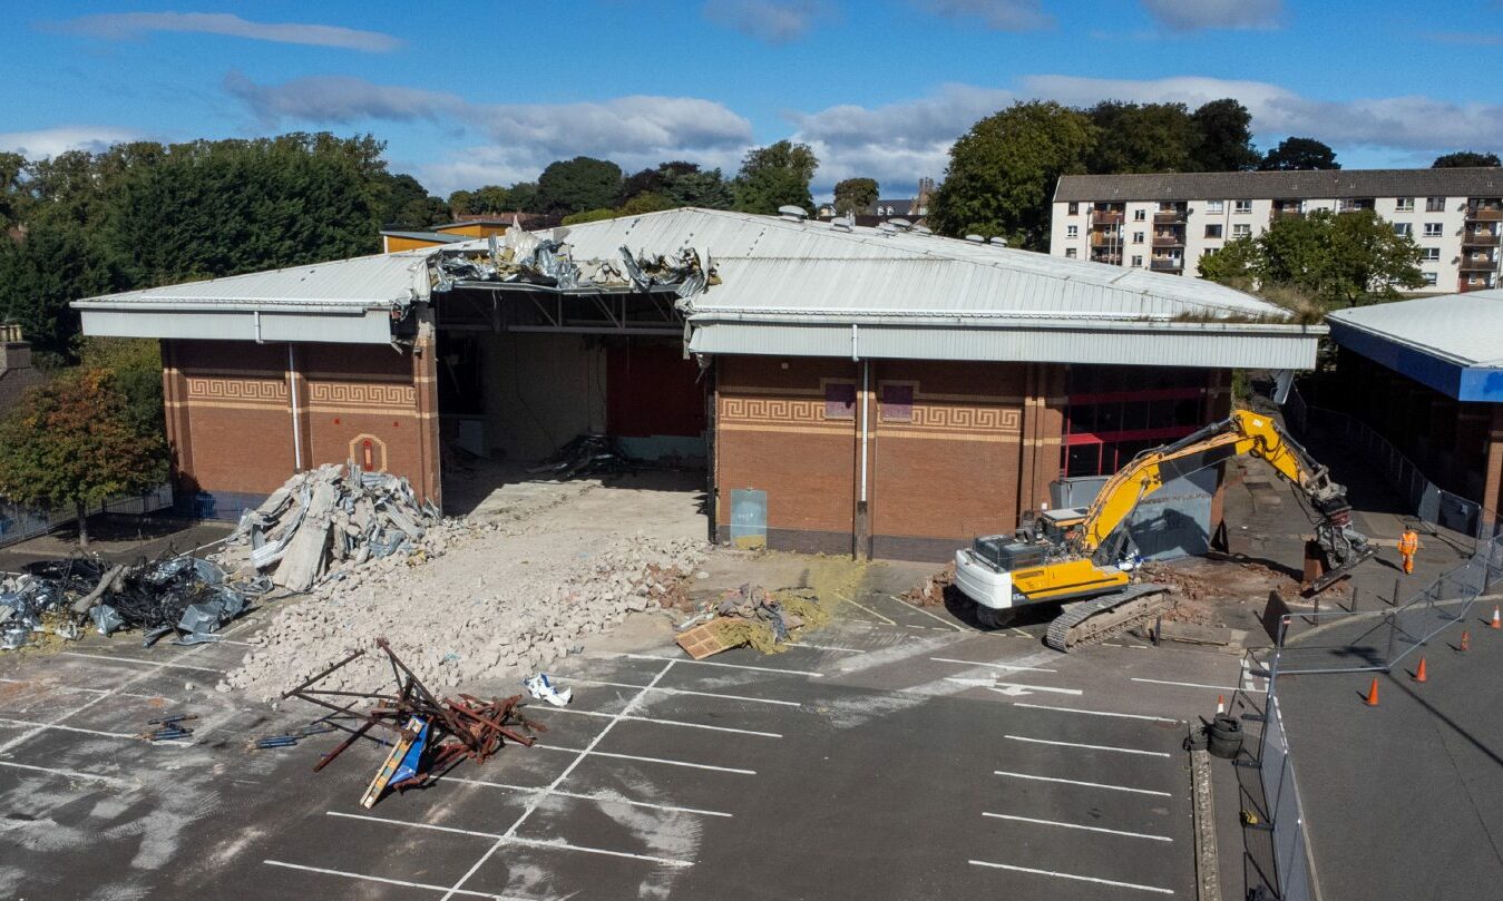
<path id="1" fill-rule="evenodd" d="M 99 557 L 42 560 L 0 581 L 0 647 L 21 647 L 39 634 L 74 640 L 86 622 L 101 635 L 141 629 L 147 646 L 170 632 L 177 632 L 176 644 L 213 641 L 219 626 L 269 587 L 265 580 L 231 583 L 197 557 L 131 566 Z"/>

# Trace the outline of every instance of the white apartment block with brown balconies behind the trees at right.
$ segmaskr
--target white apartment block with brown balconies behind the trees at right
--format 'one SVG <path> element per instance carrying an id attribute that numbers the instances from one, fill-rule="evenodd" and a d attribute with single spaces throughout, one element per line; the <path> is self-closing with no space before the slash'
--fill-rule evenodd
<path id="1" fill-rule="evenodd" d="M 1503 284 L 1500 168 L 1064 176 L 1049 252 L 1193 276 L 1228 240 L 1323 209 L 1374 210 L 1411 236 L 1423 252 L 1422 293 Z"/>

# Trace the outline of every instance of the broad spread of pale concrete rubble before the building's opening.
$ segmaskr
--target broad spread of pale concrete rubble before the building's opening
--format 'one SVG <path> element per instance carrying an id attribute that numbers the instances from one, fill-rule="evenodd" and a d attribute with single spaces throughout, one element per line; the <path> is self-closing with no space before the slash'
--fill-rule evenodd
<path id="1" fill-rule="evenodd" d="M 690 572 L 705 554 L 697 541 L 643 535 L 609 535 L 588 551 L 546 538 L 519 550 L 526 541 L 502 545 L 505 554 L 475 541 L 442 565 L 373 559 L 281 610 L 221 688 L 271 701 L 289 680 L 316 673 L 331 650 L 368 649 L 382 635 L 436 686 L 520 680 L 577 649 L 580 637 L 661 608 L 663 574 Z M 376 655 L 355 659 L 329 676 L 328 688 L 370 685 L 382 665 Z"/>

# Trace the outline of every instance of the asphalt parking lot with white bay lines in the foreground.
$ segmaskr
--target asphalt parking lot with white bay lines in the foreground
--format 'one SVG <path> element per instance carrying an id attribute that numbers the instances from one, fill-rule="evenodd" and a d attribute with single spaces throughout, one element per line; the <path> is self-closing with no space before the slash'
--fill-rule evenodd
<path id="1" fill-rule="evenodd" d="M 9 658 L 0 893 L 1192 896 L 1184 722 L 1257 691 L 1240 659 L 1132 640 L 1063 656 L 888 589 L 837 599 L 840 619 L 782 655 L 570 658 L 574 704 L 532 707 L 538 746 L 373 809 L 377 746 L 319 775 L 332 737 L 245 751 L 311 712 L 204 691 L 243 647 Z M 186 710 L 189 740 L 134 737 Z"/>

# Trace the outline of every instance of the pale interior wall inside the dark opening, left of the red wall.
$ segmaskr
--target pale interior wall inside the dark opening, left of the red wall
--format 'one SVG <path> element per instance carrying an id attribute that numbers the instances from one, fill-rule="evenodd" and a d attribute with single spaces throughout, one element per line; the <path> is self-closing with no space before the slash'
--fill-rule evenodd
<path id="1" fill-rule="evenodd" d="M 494 455 L 532 461 L 576 435 L 606 431 L 606 347 L 598 336 L 502 332 L 481 339 L 484 441 Z"/>

